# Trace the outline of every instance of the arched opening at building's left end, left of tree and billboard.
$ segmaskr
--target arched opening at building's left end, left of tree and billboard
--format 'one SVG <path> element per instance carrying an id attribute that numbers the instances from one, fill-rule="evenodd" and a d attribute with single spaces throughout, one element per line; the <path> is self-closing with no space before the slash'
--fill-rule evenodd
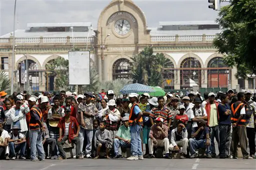
<path id="1" fill-rule="evenodd" d="M 39 91 L 39 67 L 38 64 L 30 59 L 22 60 L 21 63 L 25 64 L 28 69 L 28 86 L 31 87 L 32 91 Z"/>

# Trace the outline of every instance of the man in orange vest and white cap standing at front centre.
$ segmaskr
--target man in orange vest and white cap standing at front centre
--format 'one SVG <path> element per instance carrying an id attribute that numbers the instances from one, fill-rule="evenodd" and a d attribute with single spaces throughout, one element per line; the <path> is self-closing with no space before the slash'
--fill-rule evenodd
<path id="1" fill-rule="evenodd" d="M 138 95 L 136 93 L 130 93 L 128 97 L 132 106 L 129 114 L 131 156 L 127 158 L 127 160 L 143 160 L 141 139 L 139 136 L 142 128 L 141 125 L 143 123 L 143 120 L 142 120 L 143 114 L 136 103 Z"/>

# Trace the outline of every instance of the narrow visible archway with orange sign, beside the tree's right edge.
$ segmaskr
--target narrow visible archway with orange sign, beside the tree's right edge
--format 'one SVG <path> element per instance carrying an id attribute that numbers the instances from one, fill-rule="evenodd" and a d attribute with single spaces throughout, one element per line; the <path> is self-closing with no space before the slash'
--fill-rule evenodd
<path id="1" fill-rule="evenodd" d="M 162 73 L 164 89 L 174 89 L 174 64 L 167 59 Z"/>

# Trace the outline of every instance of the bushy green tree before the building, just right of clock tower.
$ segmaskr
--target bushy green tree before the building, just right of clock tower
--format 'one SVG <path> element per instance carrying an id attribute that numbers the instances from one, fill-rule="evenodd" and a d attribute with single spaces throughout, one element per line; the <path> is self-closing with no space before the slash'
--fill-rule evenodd
<path id="1" fill-rule="evenodd" d="M 169 62 L 163 53 L 153 54 L 152 47 L 145 47 L 131 59 L 134 61 L 131 69 L 133 83 L 161 86 L 163 68 Z"/>

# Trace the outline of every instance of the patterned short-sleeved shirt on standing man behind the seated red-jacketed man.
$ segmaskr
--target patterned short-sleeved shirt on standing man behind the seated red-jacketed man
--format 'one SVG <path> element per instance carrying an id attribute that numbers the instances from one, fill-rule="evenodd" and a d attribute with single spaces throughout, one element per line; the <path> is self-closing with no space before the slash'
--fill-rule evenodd
<path id="1" fill-rule="evenodd" d="M 96 106 L 93 103 L 85 104 L 85 103 L 80 103 L 78 106 L 78 112 L 87 112 L 91 114 L 92 116 L 95 115 L 96 113 Z M 88 117 L 86 115 L 83 115 L 83 120 L 85 127 L 82 127 L 87 130 L 93 130 L 93 119 L 92 117 Z"/>

